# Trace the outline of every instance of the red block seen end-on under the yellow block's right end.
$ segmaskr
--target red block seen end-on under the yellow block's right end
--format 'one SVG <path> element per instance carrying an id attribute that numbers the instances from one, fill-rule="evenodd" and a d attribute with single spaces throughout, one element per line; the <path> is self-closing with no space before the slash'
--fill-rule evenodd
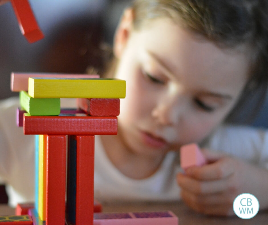
<path id="1" fill-rule="evenodd" d="M 77 107 L 91 116 L 118 116 L 120 99 L 77 99 Z"/>

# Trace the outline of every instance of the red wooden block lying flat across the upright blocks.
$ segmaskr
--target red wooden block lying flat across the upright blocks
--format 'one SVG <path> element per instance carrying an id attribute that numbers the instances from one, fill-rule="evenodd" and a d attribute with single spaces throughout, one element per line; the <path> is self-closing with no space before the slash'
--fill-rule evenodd
<path id="1" fill-rule="evenodd" d="M 116 116 L 60 114 L 60 116 L 23 115 L 24 134 L 115 135 Z"/>

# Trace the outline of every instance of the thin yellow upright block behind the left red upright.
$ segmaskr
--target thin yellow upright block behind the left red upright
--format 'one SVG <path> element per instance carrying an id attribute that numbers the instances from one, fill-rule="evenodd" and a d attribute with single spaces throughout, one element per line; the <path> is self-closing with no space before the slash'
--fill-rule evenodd
<path id="1" fill-rule="evenodd" d="M 39 135 L 39 178 L 38 178 L 38 214 L 40 220 L 46 220 L 46 151 L 44 135 Z"/>

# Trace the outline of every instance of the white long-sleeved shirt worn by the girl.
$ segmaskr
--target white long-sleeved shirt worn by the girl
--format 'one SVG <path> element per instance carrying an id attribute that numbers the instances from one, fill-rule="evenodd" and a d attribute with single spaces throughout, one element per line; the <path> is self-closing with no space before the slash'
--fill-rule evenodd
<path id="1" fill-rule="evenodd" d="M 17 97 L 0 101 L 0 181 L 8 184 L 9 204 L 34 201 L 34 135 L 17 127 Z M 75 106 L 63 100 L 62 107 Z M 268 131 L 245 126 L 220 126 L 206 148 L 223 151 L 268 169 Z M 169 152 L 153 176 L 135 180 L 123 175 L 108 159 L 99 136 L 95 136 L 94 197 L 116 200 L 178 200 L 176 174 L 182 171 L 176 152 Z"/>

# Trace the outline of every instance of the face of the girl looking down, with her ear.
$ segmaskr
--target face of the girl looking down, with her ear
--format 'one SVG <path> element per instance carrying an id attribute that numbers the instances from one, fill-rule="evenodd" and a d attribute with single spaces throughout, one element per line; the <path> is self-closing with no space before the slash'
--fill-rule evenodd
<path id="1" fill-rule="evenodd" d="M 170 19 L 115 36 L 115 78 L 126 80 L 118 117 L 121 141 L 140 155 L 200 142 L 226 117 L 247 80 L 241 51 L 220 49 Z"/>

